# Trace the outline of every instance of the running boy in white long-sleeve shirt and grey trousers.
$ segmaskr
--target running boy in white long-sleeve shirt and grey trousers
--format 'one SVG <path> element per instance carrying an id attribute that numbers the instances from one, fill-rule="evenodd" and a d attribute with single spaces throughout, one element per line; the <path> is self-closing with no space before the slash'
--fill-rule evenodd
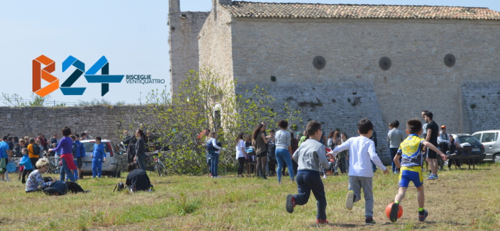
<path id="1" fill-rule="evenodd" d="M 361 199 L 361 189 L 364 194 L 364 223 L 374 225 L 373 221 L 373 188 L 371 161 L 388 173 L 387 168 L 383 166 L 375 152 L 375 144 L 369 138 L 373 132 L 373 124 L 368 119 L 362 119 L 357 123 L 357 132 L 359 136 L 352 137 L 343 144 L 335 147 L 333 153 L 349 150 L 349 189 L 345 201 L 345 207 L 352 209 L 354 202 Z M 370 161 L 371 160 L 371 161 Z"/>

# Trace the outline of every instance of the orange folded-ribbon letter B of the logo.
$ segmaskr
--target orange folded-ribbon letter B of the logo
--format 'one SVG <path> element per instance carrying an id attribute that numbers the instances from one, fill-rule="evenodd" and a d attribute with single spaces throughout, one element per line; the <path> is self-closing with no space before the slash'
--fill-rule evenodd
<path id="1" fill-rule="evenodd" d="M 41 69 L 41 64 L 45 65 L 43 69 Z M 41 97 L 45 97 L 59 87 L 59 79 L 50 74 L 54 70 L 55 62 L 52 59 L 47 58 L 45 55 L 40 55 L 33 59 L 32 90 L 34 93 Z M 49 82 L 49 84 L 43 88 L 41 88 L 42 79 Z"/>

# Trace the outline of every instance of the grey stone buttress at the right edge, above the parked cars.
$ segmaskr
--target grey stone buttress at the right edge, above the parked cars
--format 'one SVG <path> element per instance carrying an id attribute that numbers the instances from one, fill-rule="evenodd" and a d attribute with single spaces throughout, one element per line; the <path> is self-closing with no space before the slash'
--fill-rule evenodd
<path id="1" fill-rule="evenodd" d="M 464 82 L 461 100 L 464 133 L 500 129 L 500 81 Z"/>

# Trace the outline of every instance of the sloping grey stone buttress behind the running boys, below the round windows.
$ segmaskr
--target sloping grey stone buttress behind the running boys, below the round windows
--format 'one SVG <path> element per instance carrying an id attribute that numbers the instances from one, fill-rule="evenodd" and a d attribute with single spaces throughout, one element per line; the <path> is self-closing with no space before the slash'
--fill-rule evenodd
<path id="1" fill-rule="evenodd" d="M 329 85 L 264 83 L 258 86 L 265 88 L 276 99 L 275 112 L 283 113 L 282 105 L 285 103 L 301 112 L 303 121 L 296 124 L 300 133 L 305 129 L 307 121 L 316 120 L 322 124 L 325 137 L 328 137 L 331 130 L 337 128 L 348 137 L 358 136 L 357 122 L 368 118 L 377 133 L 377 152 L 381 154 L 384 164 L 390 163 L 385 139 L 387 126 L 382 122 L 373 84 L 369 82 L 336 82 Z M 238 94 L 245 94 L 246 90 L 251 91 L 254 87 L 255 84 L 247 83 L 238 85 L 236 89 Z M 268 121 L 268 127 L 276 129 L 275 122 L 277 121 Z"/>

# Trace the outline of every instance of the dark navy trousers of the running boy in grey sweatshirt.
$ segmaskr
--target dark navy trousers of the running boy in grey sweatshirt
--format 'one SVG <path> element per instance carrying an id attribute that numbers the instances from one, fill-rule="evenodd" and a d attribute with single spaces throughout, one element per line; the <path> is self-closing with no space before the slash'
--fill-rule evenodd
<path id="1" fill-rule="evenodd" d="M 298 170 L 297 191 L 298 194 L 293 195 L 293 198 L 295 198 L 295 204 L 299 206 L 307 203 L 312 191 L 314 198 L 316 198 L 316 219 L 325 220 L 326 198 L 324 197 L 324 187 L 319 177 L 319 172 L 304 174 L 300 173 L 300 170 Z"/>

